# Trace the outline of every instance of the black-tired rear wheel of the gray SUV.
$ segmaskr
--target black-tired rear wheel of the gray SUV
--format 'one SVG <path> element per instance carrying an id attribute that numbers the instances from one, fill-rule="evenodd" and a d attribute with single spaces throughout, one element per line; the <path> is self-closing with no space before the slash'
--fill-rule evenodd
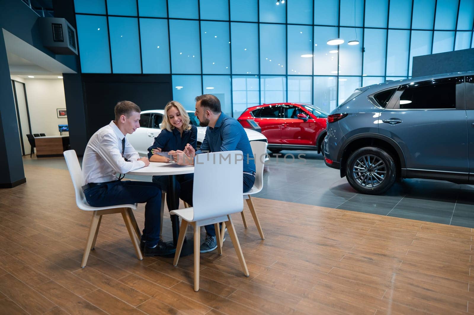
<path id="1" fill-rule="evenodd" d="M 379 194 L 392 187 L 397 168 L 385 150 L 365 147 L 353 152 L 346 164 L 346 178 L 360 193 Z"/>

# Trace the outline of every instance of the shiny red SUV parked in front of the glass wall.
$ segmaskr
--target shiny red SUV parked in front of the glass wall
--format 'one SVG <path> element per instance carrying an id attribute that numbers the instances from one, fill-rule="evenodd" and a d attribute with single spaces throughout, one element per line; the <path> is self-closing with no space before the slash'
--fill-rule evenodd
<path id="1" fill-rule="evenodd" d="M 273 153 L 281 150 L 317 150 L 319 153 L 326 136 L 327 118 L 325 111 L 313 105 L 276 103 L 249 107 L 237 120 L 244 128 L 255 129 L 258 125 Z"/>

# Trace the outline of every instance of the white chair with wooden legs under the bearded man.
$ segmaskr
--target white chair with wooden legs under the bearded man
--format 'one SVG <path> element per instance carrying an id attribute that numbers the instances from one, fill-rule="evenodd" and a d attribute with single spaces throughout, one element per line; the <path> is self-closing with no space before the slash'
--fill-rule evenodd
<path id="1" fill-rule="evenodd" d="M 254 186 L 246 193 L 244 193 L 244 199 L 247 201 L 248 209 L 250 209 L 250 213 L 254 218 L 255 226 L 257 227 L 258 233 L 262 239 L 265 239 L 264 231 L 262 230 L 262 226 L 260 225 L 260 221 L 258 220 L 257 214 L 255 212 L 254 203 L 250 195 L 255 193 L 260 193 L 262 188 L 264 187 L 264 162 L 266 156 L 266 148 L 267 143 L 264 141 L 251 141 L 250 146 L 252 147 L 252 153 L 255 157 L 255 183 Z M 245 221 L 244 211 L 240 212 L 242 215 L 242 221 L 244 223 L 244 227 L 247 228 L 247 223 Z M 224 239 L 224 231 L 225 231 L 225 224 L 222 224 L 220 237 Z"/>

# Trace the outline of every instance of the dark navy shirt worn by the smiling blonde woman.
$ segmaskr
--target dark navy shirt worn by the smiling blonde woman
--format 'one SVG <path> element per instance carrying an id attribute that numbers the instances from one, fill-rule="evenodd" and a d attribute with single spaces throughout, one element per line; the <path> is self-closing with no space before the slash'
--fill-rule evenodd
<path id="1" fill-rule="evenodd" d="M 153 145 L 148 148 L 148 158 L 153 156 L 153 153 L 151 153 L 152 149 L 161 148 L 162 152 L 184 150 L 184 147 L 186 147 L 188 143 L 196 149 L 198 143 L 198 129 L 196 126 L 191 125 L 191 129 L 183 130 L 181 135 L 176 128 L 173 128 L 171 131 L 163 129 L 160 134 L 156 136 Z"/>

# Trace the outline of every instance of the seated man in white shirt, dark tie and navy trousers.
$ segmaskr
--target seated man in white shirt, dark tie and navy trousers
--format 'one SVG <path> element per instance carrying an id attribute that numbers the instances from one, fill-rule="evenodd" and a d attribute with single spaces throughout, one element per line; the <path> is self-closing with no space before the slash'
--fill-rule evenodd
<path id="1" fill-rule="evenodd" d="M 150 164 L 125 138 L 140 127 L 140 112 L 140 107 L 130 101 L 118 102 L 115 121 L 92 135 L 82 159 L 82 189 L 93 207 L 146 202 L 140 244 L 144 256 L 173 254 L 176 248 L 160 239 L 161 189 L 155 183 L 121 180 L 120 174 Z"/>

